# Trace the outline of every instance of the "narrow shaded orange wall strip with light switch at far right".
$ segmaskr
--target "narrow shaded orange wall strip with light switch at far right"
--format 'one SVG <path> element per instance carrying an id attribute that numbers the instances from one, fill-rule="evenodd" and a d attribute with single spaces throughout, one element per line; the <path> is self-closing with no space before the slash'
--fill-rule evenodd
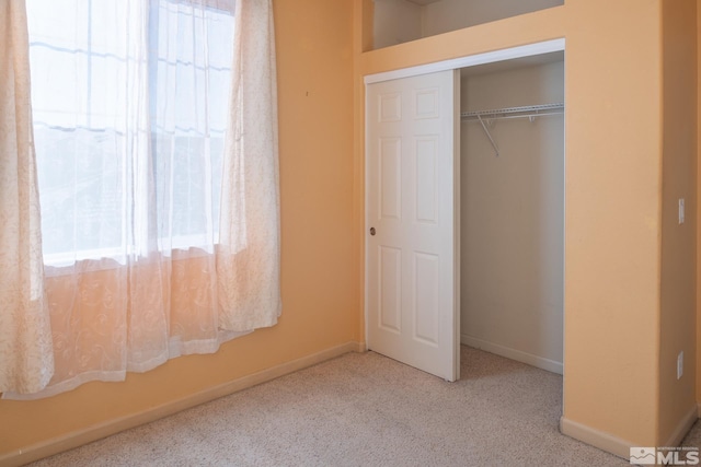
<path id="1" fill-rule="evenodd" d="M 698 415 L 697 294 L 697 1 L 663 2 L 663 212 L 659 440 Z M 685 222 L 678 202 L 685 199 Z M 683 375 L 677 380 L 677 357 Z"/>

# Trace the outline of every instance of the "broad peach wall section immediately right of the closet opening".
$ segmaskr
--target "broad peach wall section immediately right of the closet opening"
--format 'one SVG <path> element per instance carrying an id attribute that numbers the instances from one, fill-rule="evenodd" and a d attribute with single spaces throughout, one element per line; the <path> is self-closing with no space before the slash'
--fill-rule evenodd
<path id="1" fill-rule="evenodd" d="M 565 7 L 563 417 L 621 444 L 655 446 L 660 1 Z"/>

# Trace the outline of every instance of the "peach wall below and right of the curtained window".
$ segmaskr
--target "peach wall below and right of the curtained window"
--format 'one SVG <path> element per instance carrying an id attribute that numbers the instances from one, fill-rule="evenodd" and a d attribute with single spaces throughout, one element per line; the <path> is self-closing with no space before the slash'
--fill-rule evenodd
<path id="1" fill-rule="evenodd" d="M 0 400 L 0 458 L 363 340 L 354 249 L 352 0 L 275 0 L 279 91 L 279 324 L 211 355 L 171 360 L 125 383 Z M 0 463 L 1 464 L 1 463 Z"/>

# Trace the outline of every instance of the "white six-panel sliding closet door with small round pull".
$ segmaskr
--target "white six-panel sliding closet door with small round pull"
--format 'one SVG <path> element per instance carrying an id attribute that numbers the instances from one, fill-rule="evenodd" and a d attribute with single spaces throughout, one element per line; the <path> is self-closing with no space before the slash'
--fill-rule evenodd
<path id="1" fill-rule="evenodd" d="M 368 348 L 459 377 L 457 71 L 367 86 Z M 374 232 L 374 233 L 371 233 Z"/>

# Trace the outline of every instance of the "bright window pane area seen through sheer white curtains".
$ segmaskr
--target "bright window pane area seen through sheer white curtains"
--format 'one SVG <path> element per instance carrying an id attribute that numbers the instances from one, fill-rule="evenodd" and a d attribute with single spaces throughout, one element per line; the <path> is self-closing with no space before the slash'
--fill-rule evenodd
<path id="1" fill-rule="evenodd" d="M 216 242 L 234 10 L 193 3 L 27 1 L 46 264 Z"/>

